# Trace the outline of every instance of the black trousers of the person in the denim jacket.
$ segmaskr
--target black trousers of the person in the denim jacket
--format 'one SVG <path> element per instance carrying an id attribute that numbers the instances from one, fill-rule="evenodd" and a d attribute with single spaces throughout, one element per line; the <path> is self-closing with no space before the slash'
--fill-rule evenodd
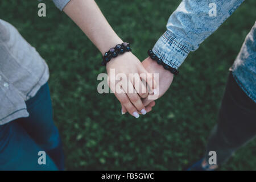
<path id="1" fill-rule="evenodd" d="M 234 151 L 256 135 L 256 103 L 240 88 L 230 72 L 218 123 L 210 135 L 205 158 L 216 151 L 217 164 L 225 163 Z"/>

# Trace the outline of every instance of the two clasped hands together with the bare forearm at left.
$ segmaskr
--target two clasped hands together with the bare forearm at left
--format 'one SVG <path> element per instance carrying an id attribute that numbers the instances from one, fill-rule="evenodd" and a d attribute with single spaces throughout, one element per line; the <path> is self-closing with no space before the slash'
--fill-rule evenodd
<path id="1" fill-rule="evenodd" d="M 114 32 L 101 13 L 95 1 L 70 1 L 63 11 L 81 28 L 102 55 L 111 47 L 123 43 L 122 39 Z M 117 99 L 121 102 L 122 114 L 128 112 L 135 118 L 138 118 L 139 114 L 146 114 L 152 110 L 152 107 L 155 105 L 154 100 L 166 92 L 174 77 L 170 71 L 167 71 L 162 65 L 151 60 L 150 57 L 141 62 L 131 52 L 125 52 L 111 59 L 106 64 L 106 69 L 112 92 L 116 86 L 123 90 L 123 92 L 114 92 Z M 119 73 L 126 75 L 128 78 L 126 79 L 126 84 L 117 85 L 119 82 L 116 83 L 115 76 L 111 75 L 111 70 L 114 70 L 115 75 Z M 143 73 L 144 76 L 139 77 Z M 147 73 L 152 74 L 147 76 Z M 158 73 L 159 79 L 154 78 L 154 73 Z M 142 88 L 143 85 L 148 88 L 146 92 L 141 92 L 142 89 L 137 88 L 136 81 L 129 80 L 129 74 L 139 75 L 137 76 L 137 81 L 144 82 L 144 84 L 139 85 Z M 124 87 L 129 87 L 129 92 L 127 92 L 127 89 L 123 89 Z M 130 90 L 134 90 L 134 92 L 130 92 Z M 152 93 L 157 94 L 154 100 L 149 97 Z"/>

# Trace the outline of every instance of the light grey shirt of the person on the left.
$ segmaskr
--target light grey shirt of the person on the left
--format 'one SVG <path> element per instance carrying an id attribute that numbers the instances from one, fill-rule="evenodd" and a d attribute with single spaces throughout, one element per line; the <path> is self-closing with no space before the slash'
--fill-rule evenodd
<path id="1" fill-rule="evenodd" d="M 53 0 L 63 10 L 70 0 Z M 28 117 L 25 101 L 48 81 L 46 61 L 10 23 L 0 19 L 0 125 Z"/>

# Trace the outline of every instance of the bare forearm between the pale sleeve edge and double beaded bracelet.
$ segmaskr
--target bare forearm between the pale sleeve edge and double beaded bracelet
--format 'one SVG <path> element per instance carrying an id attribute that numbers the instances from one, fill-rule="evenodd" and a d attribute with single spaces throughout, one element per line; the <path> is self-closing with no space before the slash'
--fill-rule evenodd
<path id="1" fill-rule="evenodd" d="M 102 55 L 109 48 L 122 43 L 95 1 L 71 0 L 63 11 L 81 28 Z"/>

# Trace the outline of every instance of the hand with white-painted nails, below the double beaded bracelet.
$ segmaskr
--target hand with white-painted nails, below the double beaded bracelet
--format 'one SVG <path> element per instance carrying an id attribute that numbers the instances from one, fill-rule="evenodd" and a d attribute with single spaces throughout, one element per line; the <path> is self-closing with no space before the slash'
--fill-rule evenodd
<path id="1" fill-rule="evenodd" d="M 115 57 L 106 64 L 106 69 L 109 76 L 109 87 L 124 107 L 122 111 L 128 111 L 136 118 L 139 117 L 139 113 L 146 114 L 147 111 L 150 111 L 149 107 L 146 108 L 141 100 L 148 96 L 148 89 L 142 80 L 147 82 L 150 90 L 156 89 L 156 83 L 133 53 L 126 52 Z M 132 74 L 133 77 L 129 74 Z M 120 77 L 117 79 L 118 75 L 121 75 L 122 81 L 118 80 Z M 122 76 L 127 79 L 124 80 Z M 154 102 L 150 106 L 154 106 Z"/>

